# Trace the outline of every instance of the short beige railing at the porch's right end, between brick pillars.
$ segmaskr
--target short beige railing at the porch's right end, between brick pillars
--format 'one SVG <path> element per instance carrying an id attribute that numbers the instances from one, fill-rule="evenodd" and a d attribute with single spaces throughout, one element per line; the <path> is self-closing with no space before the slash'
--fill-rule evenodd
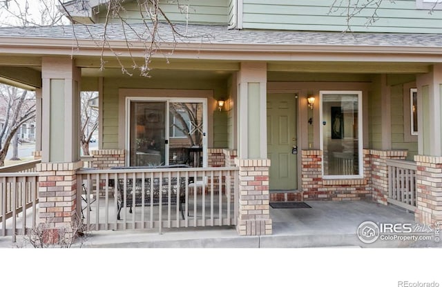
<path id="1" fill-rule="evenodd" d="M 388 198 L 390 204 L 414 212 L 416 209 L 416 163 L 387 159 Z"/>

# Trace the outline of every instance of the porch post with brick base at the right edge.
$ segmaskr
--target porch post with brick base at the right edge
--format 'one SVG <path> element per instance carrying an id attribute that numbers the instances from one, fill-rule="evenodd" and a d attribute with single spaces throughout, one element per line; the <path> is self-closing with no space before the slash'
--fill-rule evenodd
<path id="1" fill-rule="evenodd" d="M 416 221 L 442 221 L 442 65 L 416 77 L 419 155 L 416 161 Z"/>

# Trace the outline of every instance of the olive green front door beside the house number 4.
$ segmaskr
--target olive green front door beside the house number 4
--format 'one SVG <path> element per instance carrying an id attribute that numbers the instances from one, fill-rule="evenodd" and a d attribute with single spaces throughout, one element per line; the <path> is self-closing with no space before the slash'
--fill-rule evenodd
<path id="1" fill-rule="evenodd" d="M 296 139 L 296 102 L 294 94 L 267 95 L 267 154 L 271 160 L 270 190 L 298 189 Z"/>

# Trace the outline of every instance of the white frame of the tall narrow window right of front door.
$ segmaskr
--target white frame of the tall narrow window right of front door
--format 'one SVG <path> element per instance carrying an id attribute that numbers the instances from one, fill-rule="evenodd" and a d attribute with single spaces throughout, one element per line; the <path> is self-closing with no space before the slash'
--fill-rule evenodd
<path id="1" fill-rule="evenodd" d="M 323 97 L 324 95 L 358 95 L 358 175 L 324 175 L 324 155 L 322 164 L 323 179 L 363 179 L 363 92 L 362 90 L 321 90 L 319 92 L 319 138 L 320 150 L 324 150 L 324 125 L 323 125 Z"/>

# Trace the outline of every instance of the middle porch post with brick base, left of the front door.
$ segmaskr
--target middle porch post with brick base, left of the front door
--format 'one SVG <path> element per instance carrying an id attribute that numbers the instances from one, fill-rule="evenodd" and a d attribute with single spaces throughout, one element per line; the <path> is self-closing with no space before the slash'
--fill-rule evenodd
<path id="1" fill-rule="evenodd" d="M 241 63 L 238 72 L 238 158 L 240 235 L 269 235 L 267 159 L 267 64 Z"/>

